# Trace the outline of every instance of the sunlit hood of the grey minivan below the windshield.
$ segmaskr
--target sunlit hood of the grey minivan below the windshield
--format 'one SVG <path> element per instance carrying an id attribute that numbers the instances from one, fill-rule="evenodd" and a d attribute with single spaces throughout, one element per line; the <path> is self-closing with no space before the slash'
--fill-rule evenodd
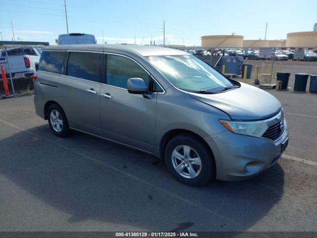
<path id="1" fill-rule="evenodd" d="M 223 93 L 189 93 L 189 95 L 237 120 L 266 119 L 281 110 L 281 104 L 274 96 L 245 83 L 241 83 L 240 88 L 233 88 Z"/>

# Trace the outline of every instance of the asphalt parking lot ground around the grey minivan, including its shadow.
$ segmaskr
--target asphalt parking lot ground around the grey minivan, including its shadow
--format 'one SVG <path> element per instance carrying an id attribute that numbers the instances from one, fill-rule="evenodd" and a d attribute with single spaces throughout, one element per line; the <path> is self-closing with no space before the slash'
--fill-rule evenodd
<path id="1" fill-rule="evenodd" d="M 151 155 L 54 136 L 33 96 L 0 100 L 0 231 L 317 231 L 317 96 L 269 92 L 289 123 L 285 155 L 254 179 L 204 187 Z"/>

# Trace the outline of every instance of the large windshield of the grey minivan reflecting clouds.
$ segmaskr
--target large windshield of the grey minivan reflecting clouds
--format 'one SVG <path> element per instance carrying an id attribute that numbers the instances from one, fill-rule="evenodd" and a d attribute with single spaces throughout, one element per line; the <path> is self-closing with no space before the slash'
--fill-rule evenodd
<path id="1" fill-rule="evenodd" d="M 235 86 L 221 73 L 195 56 L 149 56 L 146 58 L 174 86 L 189 92 L 216 92 Z"/>

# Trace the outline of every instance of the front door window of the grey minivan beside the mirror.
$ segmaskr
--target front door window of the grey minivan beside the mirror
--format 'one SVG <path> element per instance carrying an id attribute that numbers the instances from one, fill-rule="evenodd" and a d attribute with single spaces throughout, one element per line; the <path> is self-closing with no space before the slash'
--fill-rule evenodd
<path id="1" fill-rule="evenodd" d="M 107 55 L 106 84 L 127 88 L 129 78 L 142 78 L 149 86 L 149 74 L 136 62 L 122 56 Z"/>

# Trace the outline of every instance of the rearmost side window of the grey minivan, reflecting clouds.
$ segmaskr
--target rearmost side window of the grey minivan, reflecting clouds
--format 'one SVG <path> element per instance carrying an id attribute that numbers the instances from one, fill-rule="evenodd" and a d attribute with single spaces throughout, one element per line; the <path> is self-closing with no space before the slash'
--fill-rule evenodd
<path id="1" fill-rule="evenodd" d="M 60 73 L 65 52 L 43 51 L 40 58 L 39 70 Z"/>

